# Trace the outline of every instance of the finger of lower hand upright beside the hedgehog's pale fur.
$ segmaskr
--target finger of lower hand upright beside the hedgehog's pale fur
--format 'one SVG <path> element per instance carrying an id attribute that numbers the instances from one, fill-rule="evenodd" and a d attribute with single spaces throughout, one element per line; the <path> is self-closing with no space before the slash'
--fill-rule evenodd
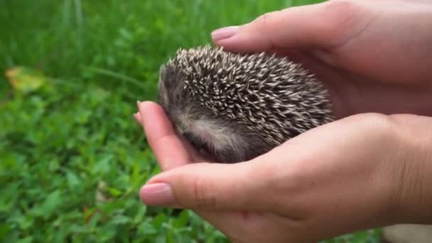
<path id="1" fill-rule="evenodd" d="M 153 102 L 141 102 L 138 105 L 139 116 L 151 150 L 163 171 L 184 166 L 193 161 L 183 146 L 182 141 L 171 125 L 162 107 Z"/>

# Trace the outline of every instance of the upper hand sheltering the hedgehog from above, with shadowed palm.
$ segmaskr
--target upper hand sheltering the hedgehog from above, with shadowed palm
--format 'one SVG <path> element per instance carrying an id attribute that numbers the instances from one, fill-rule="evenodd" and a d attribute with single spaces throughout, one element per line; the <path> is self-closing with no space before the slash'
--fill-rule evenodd
<path id="1" fill-rule="evenodd" d="M 272 51 L 328 87 L 338 118 L 432 115 L 432 3 L 335 0 L 260 16 L 212 36 L 233 52 Z"/>

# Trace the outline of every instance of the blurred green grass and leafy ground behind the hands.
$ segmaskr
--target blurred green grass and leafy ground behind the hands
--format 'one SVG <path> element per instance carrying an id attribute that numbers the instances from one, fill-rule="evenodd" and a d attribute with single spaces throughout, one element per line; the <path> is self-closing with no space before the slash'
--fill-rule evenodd
<path id="1" fill-rule="evenodd" d="M 48 77 L 26 93 L 0 77 L 0 242 L 227 242 L 193 212 L 139 201 L 159 168 L 136 100 L 156 99 L 158 68 L 177 48 L 312 2 L 0 0 L 1 72 Z"/>

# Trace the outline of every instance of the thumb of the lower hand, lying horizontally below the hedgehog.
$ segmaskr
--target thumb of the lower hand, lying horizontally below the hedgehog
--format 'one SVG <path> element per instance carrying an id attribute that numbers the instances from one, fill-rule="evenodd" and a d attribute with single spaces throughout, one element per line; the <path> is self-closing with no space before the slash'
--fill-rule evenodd
<path id="1" fill-rule="evenodd" d="M 163 172 L 141 188 L 147 205 L 192 210 L 259 210 L 266 207 L 265 163 L 193 163 Z M 264 167 L 264 168 L 263 168 Z"/>

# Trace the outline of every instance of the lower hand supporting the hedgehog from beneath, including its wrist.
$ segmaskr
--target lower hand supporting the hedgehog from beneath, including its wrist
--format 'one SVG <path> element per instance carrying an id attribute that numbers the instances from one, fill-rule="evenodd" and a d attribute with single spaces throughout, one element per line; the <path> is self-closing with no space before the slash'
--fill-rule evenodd
<path id="1" fill-rule="evenodd" d="M 139 104 L 135 118 L 163 169 L 141 200 L 195 210 L 232 242 L 313 242 L 432 222 L 432 118 L 355 115 L 234 164 L 203 161 L 157 104 Z"/>

